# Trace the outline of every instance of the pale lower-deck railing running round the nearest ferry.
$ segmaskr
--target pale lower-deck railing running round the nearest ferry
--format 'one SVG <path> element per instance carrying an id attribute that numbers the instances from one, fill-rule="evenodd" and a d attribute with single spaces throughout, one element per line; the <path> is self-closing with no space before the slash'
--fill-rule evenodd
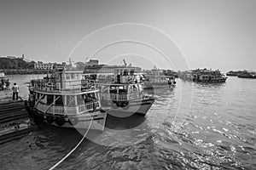
<path id="1" fill-rule="evenodd" d="M 94 106 L 95 105 L 95 106 Z M 38 103 L 37 109 L 49 114 L 58 114 L 58 115 L 80 115 L 88 111 L 93 111 L 94 107 L 99 109 L 100 104 L 99 102 L 91 102 L 84 105 L 77 105 L 77 106 L 67 106 L 67 105 L 49 105 L 43 104 L 41 102 Z"/>

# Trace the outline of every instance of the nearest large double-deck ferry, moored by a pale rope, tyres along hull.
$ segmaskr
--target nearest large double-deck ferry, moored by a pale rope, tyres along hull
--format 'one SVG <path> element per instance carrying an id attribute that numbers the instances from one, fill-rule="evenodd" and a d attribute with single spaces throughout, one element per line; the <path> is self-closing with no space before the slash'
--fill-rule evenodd
<path id="1" fill-rule="evenodd" d="M 99 89 L 82 75 L 83 71 L 61 68 L 50 77 L 32 80 L 26 110 L 36 122 L 103 131 L 107 112 L 102 110 Z"/>

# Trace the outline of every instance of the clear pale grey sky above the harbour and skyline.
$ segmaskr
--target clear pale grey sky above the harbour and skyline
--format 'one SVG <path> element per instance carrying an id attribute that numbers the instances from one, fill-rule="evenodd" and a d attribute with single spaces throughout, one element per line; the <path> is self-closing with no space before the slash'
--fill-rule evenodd
<path id="1" fill-rule="evenodd" d="M 256 71 L 254 0 L 0 0 L 0 55 Z"/>

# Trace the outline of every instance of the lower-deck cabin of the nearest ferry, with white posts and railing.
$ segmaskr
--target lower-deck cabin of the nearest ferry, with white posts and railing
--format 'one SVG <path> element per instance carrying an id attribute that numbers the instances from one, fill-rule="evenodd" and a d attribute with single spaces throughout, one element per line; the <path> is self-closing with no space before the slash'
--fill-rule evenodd
<path id="1" fill-rule="evenodd" d="M 98 90 L 78 94 L 49 94 L 31 91 L 38 111 L 57 115 L 80 115 L 100 108 Z"/>

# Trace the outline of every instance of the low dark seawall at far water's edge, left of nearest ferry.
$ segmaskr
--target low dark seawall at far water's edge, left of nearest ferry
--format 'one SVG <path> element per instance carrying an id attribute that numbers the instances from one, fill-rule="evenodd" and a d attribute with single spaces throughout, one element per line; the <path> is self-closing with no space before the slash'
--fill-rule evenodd
<path id="1" fill-rule="evenodd" d="M 47 74 L 53 71 L 49 70 L 23 70 L 23 69 L 0 69 L 5 75 L 26 75 L 26 74 Z"/>

